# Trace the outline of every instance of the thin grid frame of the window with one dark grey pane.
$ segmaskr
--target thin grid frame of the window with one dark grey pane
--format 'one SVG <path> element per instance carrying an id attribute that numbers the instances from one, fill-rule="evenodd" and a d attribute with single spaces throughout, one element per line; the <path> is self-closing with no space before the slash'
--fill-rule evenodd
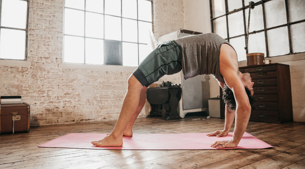
<path id="1" fill-rule="evenodd" d="M 108 56 L 105 56 L 105 41 L 112 41 L 112 42 L 118 42 L 118 43 L 120 43 L 120 47 L 121 47 L 121 51 L 120 51 L 120 55 L 121 55 L 121 65 L 123 65 L 123 52 L 122 52 L 122 44 L 123 44 L 123 42 L 127 42 L 127 43 L 135 43 L 135 44 L 137 44 L 137 46 L 138 46 L 138 64 L 137 65 L 139 65 L 140 64 L 140 60 L 139 60 L 139 56 L 140 56 L 140 54 L 139 54 L 139 44 L 142 44 L 142 45 L 147 45 L 146 43 L 139 43 L 139 21 L 140 22 L 148 22 L 148 23 L 151 23 L 152 24 L 152 31 L 154 31 L 153 30 L 153 0 L 144 0 L 144 1 L 148 1 L 148 2 L 151 2 L 151 4 L 152 4 L 152 10 L 151 10 L 151 12 L 152 12 L 152 22 L 149 22 L 149 21 L 143 21 L 143 20 L 139 20 L 139 10 L 138 10 L 138 0 L 136 0 L 136 5 L 137 5 L 137 18 L 136 19 L 133 19 L 133 18 L 125 18 L 125 17 L 122 17 L 122 0 L 121 0 L 121 16 L 116 16 L 116 15 L 111 15 L 111 14 L 105 14 L 105 0 L 103 0 L 103 13 L 99 13 L 99 12 L 92 12 L 92 11 L 87 11 L 86 10 L 86 0 L 84 0 L 84 10 L 80 10 L 80 9 L 75 9 L 75 8 L 70 8 L 70 7 L 66 7 L 65 6 L 65 2 L 64 2 L 64 11 L 65 11 L 65 9 L 71 9 L 71 10 L 79 10 L 79 11 L 83 11 L 84 12 L 84 36 L 77 36 L 77 35 L 70 35 L 70 34 L 65 34 L 64 33 L 64 25 L 63 25 L 63 37 L 65 37 L 65 36 L 73 36 L 73 37 L 83 37 L 84 38 L 84 63 L 80 63 L 81 65 L 93 65 L 93 64 L 86 64 L 86 38 L 91 38 L 91 39 L 99 39 L 99 40 L 103 40 L 104 41 L 104 46 L 103 46 L 103 48 L 104 48 L 104 64 L 103 65 L 106 65 L 105 63 L 106 63 L 106 58 L 108 57 Z M 104 19 L 103 19 L 103 26 L 104 26 L 104 28 L 103 28 L 103 34 L 104 34 L 104 36 L 103 36 L 103 38 L 95 38 L 95 37 L 86 37 L 86 12 L 91 12 L 91 13 L 95 13 L 95 14 L 102 14 L 103 15 L 103 17 L 104 17 Z M 121 18 L 121 40 L 120 41 L 118 41 L 118 40 L 110 40 L 110 39 L 105 39 L 105 16 L 112 16 L 112 17 L 117 17 L 117 18 Z M 137 21 L 137 35 L 138 35 L 138 39 L 137 39 L 137 42 L 129 42 L 129 41 L 123 41 L 123 21 L 122 21 L 122 19 L 130 19 L 130 20 L 135 20 L 135 21 Z M 64 19 L 63 19 L 63 21 L 64 21 Z M 70 62 L 64 62 L 64 44 L 63 44 L 63 63 L 70 63 Z M 75 64 L 75 63 L 73 63 L 73 64 Z"/>

